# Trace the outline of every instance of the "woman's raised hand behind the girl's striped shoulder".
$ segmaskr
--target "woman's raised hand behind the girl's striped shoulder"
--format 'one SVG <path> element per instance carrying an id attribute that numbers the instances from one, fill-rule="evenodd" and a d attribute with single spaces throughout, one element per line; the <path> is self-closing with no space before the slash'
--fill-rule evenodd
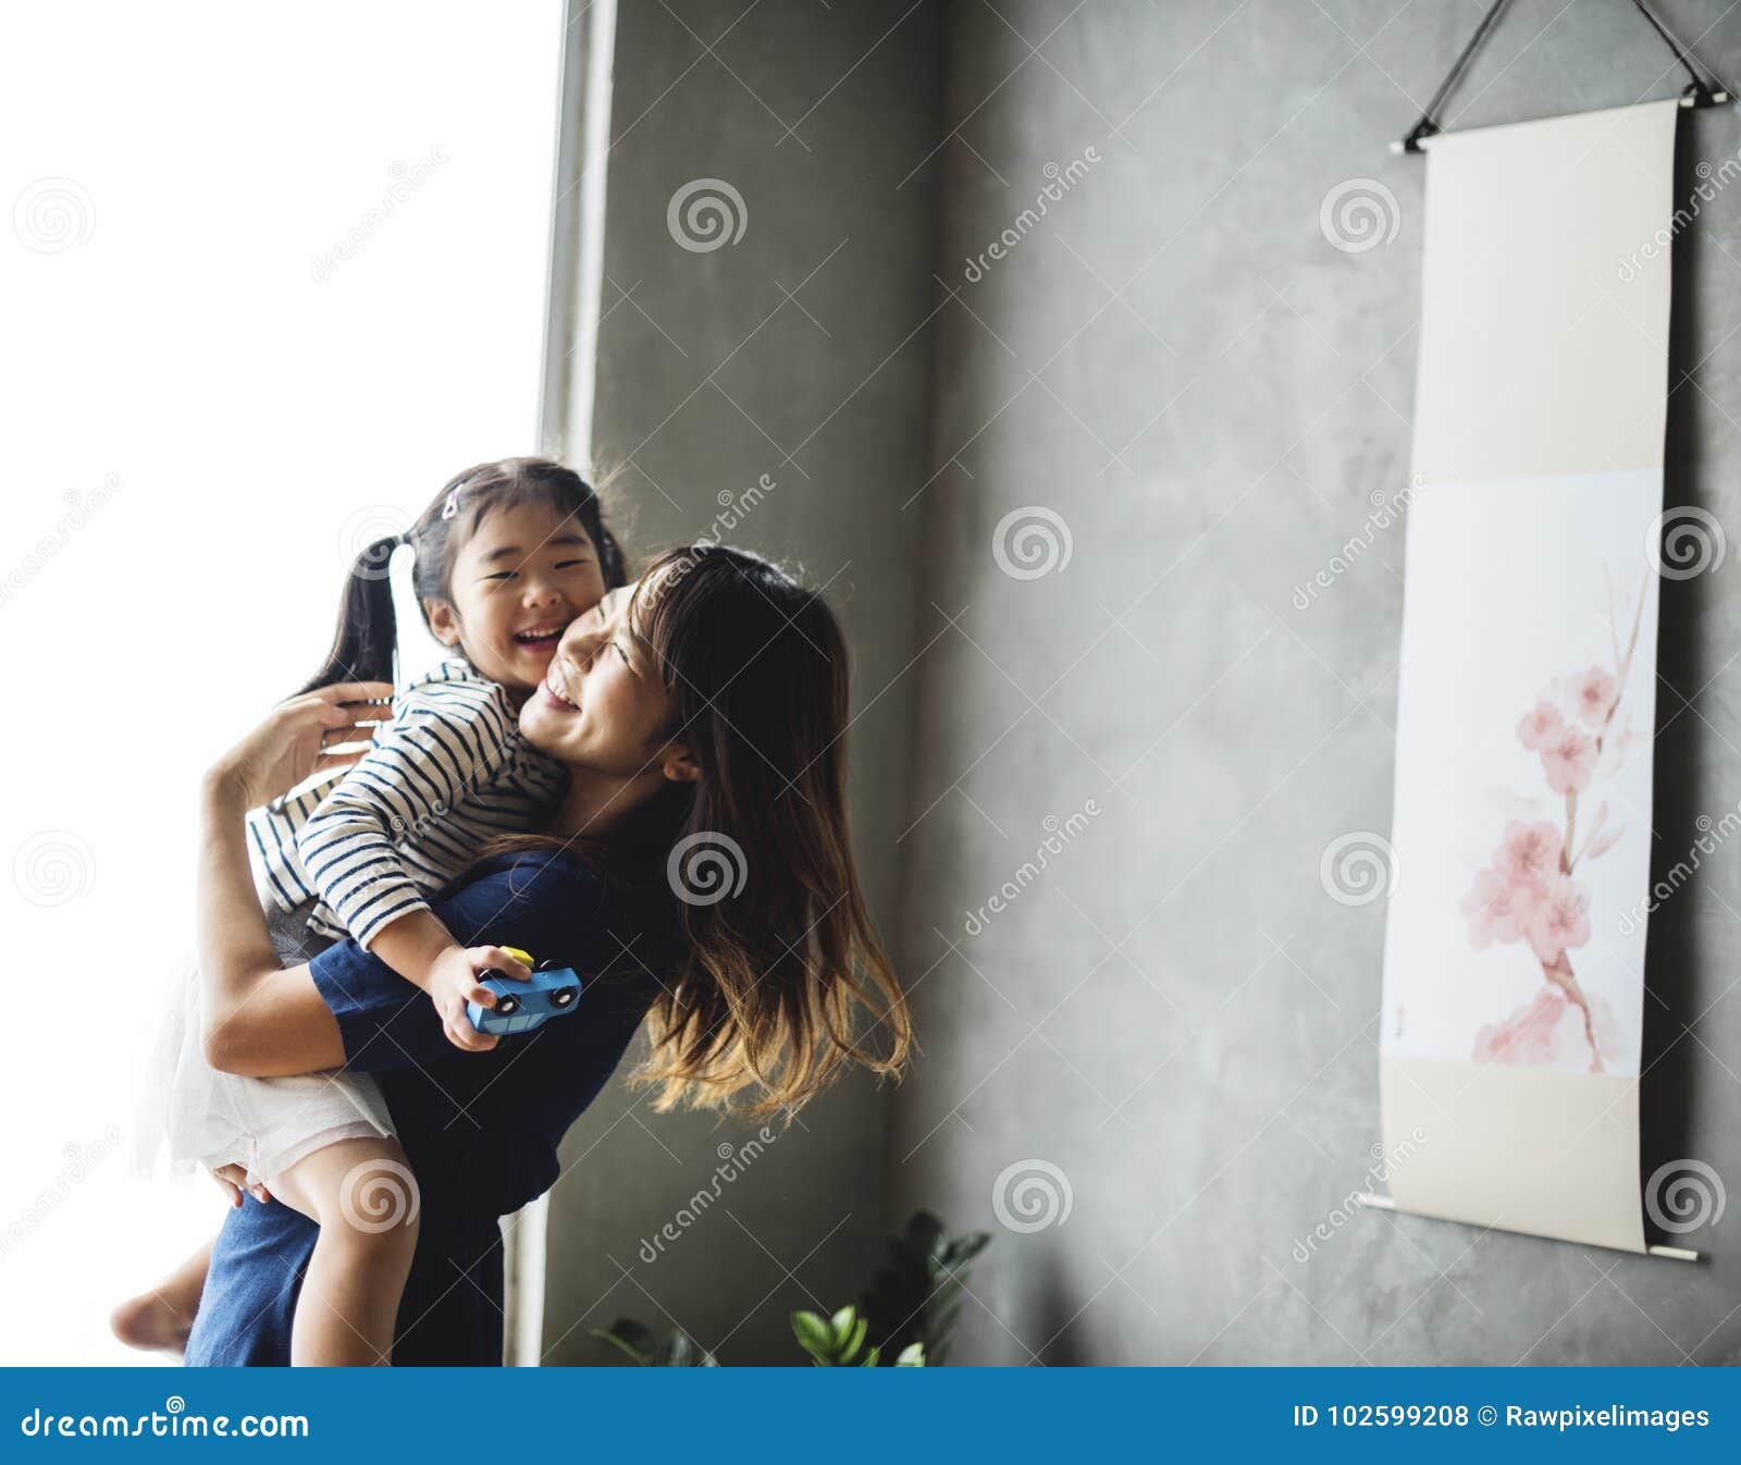
<path id="1" fill-rule="evenodd" d="M 348 768 L 367 749 L 336 753 L 367 742 L 388 716 L 393 686 L 387 681 L 339 681 L 280 702 L 266 719 L 205 773 L 207 791 L 258 808 L 313 773 Z M 348 705 L 346 705 L 348 704 Z"/>

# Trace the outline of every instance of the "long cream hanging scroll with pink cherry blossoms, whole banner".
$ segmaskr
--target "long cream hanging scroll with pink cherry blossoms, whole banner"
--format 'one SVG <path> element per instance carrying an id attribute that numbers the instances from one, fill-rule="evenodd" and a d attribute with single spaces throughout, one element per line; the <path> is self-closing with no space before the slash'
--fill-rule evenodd
<path id="1" fill-rule="evenodd" d="M 1398 1209 L 1628 1251 L 1677 117 L 1422 143 L 1379 1043 Z"/>

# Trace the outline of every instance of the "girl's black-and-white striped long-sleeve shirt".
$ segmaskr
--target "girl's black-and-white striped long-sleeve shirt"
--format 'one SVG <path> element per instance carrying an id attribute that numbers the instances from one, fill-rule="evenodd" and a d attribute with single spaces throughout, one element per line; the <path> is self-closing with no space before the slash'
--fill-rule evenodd
<path id="1" fill-rule="evenodd" d="M 566 784 L 507 693 L 444 662 L 393 699 L 393 721 L 343 777 L 247 817 L 256 874 L 282 909 L 313 899 L 315 930 L 367 948 L 428 909 L 486 840 L 540 829 Z"/>

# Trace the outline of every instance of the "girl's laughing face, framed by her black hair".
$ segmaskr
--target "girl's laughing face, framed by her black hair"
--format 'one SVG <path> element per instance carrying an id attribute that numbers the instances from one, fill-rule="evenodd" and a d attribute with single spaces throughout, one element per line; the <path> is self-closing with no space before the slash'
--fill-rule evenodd
<path id="1" fill-rule="evenodd" d="M 524 697 L 545 676 L 562 632 L 604 594 L 599 550 L 548 503 L 484 514 L 453 559 L 447 599 L 428 601 L 430 629 L 479 676 Z"/>

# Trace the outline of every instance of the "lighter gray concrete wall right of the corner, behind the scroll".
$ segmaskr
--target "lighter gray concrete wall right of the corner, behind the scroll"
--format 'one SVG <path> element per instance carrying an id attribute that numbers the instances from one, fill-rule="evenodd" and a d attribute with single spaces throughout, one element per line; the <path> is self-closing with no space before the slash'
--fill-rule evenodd
<path id="1" fill-rule="evenodd" d="M 897 1209 L 998 1239 L 961 1360 L 1678 1364 L 1741 1359 L 1729 1225 L 1699 1266 L 1356 1214 L 1377 1141 L 1382 904 L 1318 883 L 1325 845 L 1389 827 L 1402 531 L 1306 611 L 1407 481 L 1421 267 L 1414 120 L 1480 9 L 1363 0 L 963 3 L 949 122 L 926 653 L 905 967 L 924 1061 L 895 1104 Z M 1663 5 L 1722 71 L 1741 17 Z M 1038 54 L 1031 51 L 1038 49 Z M 1516 0 L 1450 125 L 1670 96 L 1626 5 Z M 1685 174 L 1741 143 L 1687 120 Z M 1104 157 L 965 282 L 1048 164 Z M 1339 253 L 1325 195 L 1375 178 L 1393 242 Z M 1677 246 L 1670 503 L 1738 519 L 1741 193 Z M 1687 376 L 1691 371 L 1691 378 Z M 1064 516 L 1062 573 L 1001 573 L 1001 516 Z M 1732 566 L 1664 587 L 1657 850 L 1741 796 Z M 945 625 L 945 617 L 952 625 Z M 1046 836 L 1104 810 L 1008 911 L 977 909 Z M 1741 1185 L 1738 854 L 1652 930 L 1649 1157 Z M 1010 1165 L 1067 1178 L 1062 1225 L 994 1221 Z M 1013 1183 L 1013 1181 L 1012 1181 Z M 1006 1185 L 1012 1185 L 1006 1183 Z M 1041 1185 L 1057 1181 L 1041 1176 Z M 1039 1202 L 1039 1190 L 1027 1198 Z M 1017 1223 L 1024 1223 L 1015 1214 Z"/>

